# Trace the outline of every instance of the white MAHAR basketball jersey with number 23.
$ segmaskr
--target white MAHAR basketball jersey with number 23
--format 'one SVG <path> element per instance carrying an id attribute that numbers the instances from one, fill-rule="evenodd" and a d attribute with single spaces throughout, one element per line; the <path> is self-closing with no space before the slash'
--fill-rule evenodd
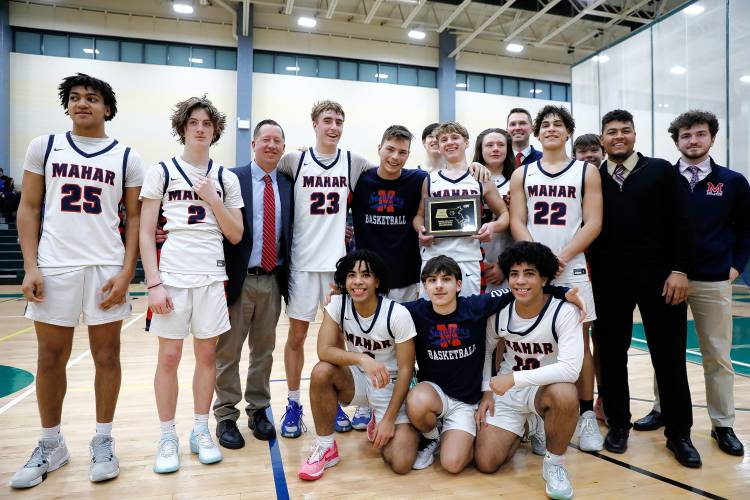
<path id="1" fill-rule="evenodd" d="M 350 163 L 349 152 L 340 149 L 328 165 L 312 148 L 302 153 L 294 176 L 292 270 L 335 271 L 346 253 Z"/>

